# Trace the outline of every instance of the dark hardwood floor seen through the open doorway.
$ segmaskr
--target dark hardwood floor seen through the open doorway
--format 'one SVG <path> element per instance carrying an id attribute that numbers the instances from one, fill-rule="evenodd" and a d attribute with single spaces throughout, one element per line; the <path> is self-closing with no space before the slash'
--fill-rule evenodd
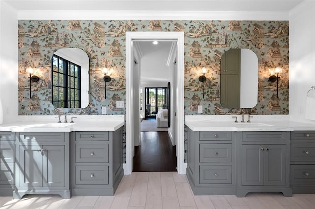
<path id="1" fill-rule="evenodd" d="M 133 171 L 176 171 L 176 147 L 168 133 L 141 132 L 141 145 L 135 147 Z"/>

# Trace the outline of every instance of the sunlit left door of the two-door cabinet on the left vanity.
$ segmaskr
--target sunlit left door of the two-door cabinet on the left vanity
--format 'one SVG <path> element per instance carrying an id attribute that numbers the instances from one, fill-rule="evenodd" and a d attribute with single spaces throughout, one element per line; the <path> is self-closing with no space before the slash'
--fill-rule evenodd
<path id="1" fill-rule="evenodd" d="M 43 167 L 41 146 L 20 145 L 20 157 L 18 161 L 19 170 L 18 180 L 20 187 L 42 187 L 43 185 Z"/>

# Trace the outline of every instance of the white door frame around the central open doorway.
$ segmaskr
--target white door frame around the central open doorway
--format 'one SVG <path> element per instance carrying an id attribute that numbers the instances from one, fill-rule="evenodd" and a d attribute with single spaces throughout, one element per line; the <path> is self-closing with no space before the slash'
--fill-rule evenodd
<path id="1" fill-rule="evenodd" d="M 133 43 L 136 40 L 175 40 L 177 41 L 177 85 L 176 85 L 176 153 L 177 172 L 185 174 L 184 165 L 184 32 L 126 32 L 126 163 L 124 174 L 132 173 L 133 158 Z"/>

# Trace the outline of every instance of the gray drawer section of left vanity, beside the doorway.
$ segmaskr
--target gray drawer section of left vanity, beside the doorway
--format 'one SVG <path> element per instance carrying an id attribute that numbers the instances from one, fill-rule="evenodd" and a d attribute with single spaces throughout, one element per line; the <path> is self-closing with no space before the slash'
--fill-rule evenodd
<path id="1" fill-rule="evenodd" d="M 78 131 L 72 137 L 73 195 L 114 195 L 123 177 L 122 128 L 109 132 Z"/>

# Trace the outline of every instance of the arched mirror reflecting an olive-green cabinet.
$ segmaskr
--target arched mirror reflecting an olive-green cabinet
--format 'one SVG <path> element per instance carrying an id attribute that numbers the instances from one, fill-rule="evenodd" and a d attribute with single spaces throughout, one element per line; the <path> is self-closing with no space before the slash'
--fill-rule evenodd
<path id="1" fill-rule="evenodd" d="M 258 99 L 258 57 L 249 49 L 230 49 L 221 57 L 221 104 L 252 108 Z"/>

